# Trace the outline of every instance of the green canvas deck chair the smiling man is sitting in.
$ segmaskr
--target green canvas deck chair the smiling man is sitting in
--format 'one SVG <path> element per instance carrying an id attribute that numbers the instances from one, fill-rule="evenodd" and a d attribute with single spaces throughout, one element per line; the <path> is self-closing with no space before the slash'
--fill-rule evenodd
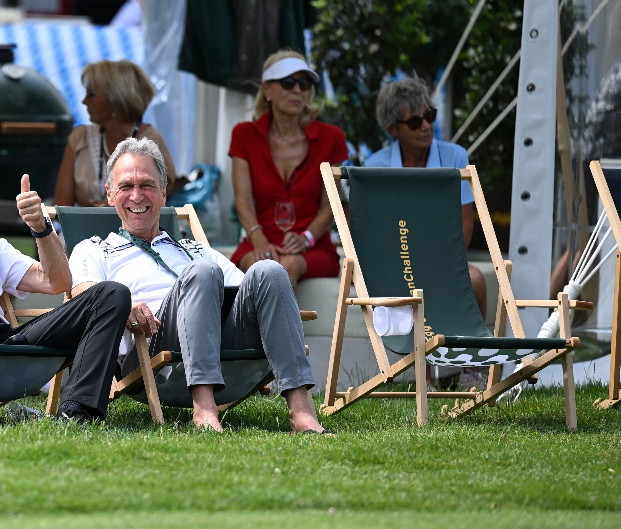
<path id="1" fill-rule="evenodd" d="M 120 227 L 119 215 L 113 208 L 99 207 L 48 207 L 51 218 L 58 217 L 63 228 L 67 251 L 71 254 L 76 244 L 84 239 L 98 235 L 106 238 L 110 232 L 117 233 Z M 188 220 L 195 240 L 207 246 L 209 242 L 196 216 L 194 207 L 163 207 L 160 213 L 160 226 L 176 239 L 181 238 L 179 219 Z M 225 309 L 230 309 L 235 292 L 225 289 Z M 301 311 L 303 320 L 317 318 L 314 311 Z M 136 348 L 140 368 L 125 378 L 112 381 L 111 399 L 127 393 L 132 399 L 148 404 L 155 422 L 164 422 L 161 404 L 176 407 L 192 407 L 192 397 L 186 385 L 181 353 L 179 351 L 160 351 L 149 357 L 145 335 L 136 335 Z M 307 350 L 308 354 L 308 350 Z M 265 392 L 266 384 L 273 381 L 270 364 L 262 349 L 220 351 L 222 376 L 226 382 L 223 391 L 217 392 L 215 402 L 220 412 L 230 409 L 257 391 Z M 54 410 L 58 403 L 61 374 L 52 381 L 50 404 Z M 143 382 L 144 389 L 132 394 L 132 387 Z"/>

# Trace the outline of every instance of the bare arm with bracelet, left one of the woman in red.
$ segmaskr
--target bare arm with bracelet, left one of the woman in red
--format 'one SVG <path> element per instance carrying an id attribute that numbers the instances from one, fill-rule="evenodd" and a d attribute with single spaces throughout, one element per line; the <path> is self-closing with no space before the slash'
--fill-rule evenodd
<path id="1" fill-rule="evenodd" d="M 233 156 L 233 191 L 235 192 L 235 208 L 242 226 L 246 232 L 258 224 L 256 220 L 255 198 L 252 194 L 252 180 L 250 179 L 250 165 L 243 158 Z M 299 237 L 299 236 L 298 236 Z M 265 259 L 266 253 L 271 253 L 271 258 L 279 261 L 278 254 L 285 253 L 283 248 L 268 241 L 263 230 L 257 228 L 247 237 L 254 248 L 255 259 Z"/>

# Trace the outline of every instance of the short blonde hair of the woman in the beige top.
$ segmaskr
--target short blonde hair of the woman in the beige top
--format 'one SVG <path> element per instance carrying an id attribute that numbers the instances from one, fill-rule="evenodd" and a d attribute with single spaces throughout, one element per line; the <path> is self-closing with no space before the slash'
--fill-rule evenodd
<path id="1" fill-rule="evenodd" d="M 142 121 L 155 95 L 147 74 L 132 61 L 99 61 L 86 65 L 82 84 L 101 90 L 127 121 Z"/>

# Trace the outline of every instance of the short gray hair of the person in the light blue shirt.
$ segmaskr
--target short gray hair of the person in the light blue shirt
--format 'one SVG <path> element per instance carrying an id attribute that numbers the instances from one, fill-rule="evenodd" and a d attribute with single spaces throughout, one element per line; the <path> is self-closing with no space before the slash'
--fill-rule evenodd
<path id="1" fill-rule="evenodd" d="M 429 89 L 418 76 L 387 84 L 379 91 L 375 107 L 379 126 L 388 131 L 402 119 L 402 112 L 418 112 L 432 106 Z"/>

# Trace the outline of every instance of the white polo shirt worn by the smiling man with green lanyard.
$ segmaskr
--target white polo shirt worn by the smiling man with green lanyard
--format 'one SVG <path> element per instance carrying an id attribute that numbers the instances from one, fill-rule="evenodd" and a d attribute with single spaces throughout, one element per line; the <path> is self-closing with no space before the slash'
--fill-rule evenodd
<path id="1" fill-rule="evenodd" d="M 219 251 L 206 248 L 201 241 L 183 239 L 179 243 L 194 259 L 209 259 L 220 266 L 225 285 L 242 283 L 243 272 Z M 181 274 L 183 268 L 191 262 L 188 255 L 166 232 L 155 237 L 151 247 L 177 274 Z M 129 288 L 133 302 L 145 302 L 153 314 L 160 309 L 166 294 L 177 279 L 147 252 L 117 233 L 110 233 L 105 240 L 91 237 L 78 243 L 69 258 L 69 267 L 74 287 L 91 281 L 117 281 Z M 131 341 L 131 333 L 125 330 L 119 349 L 120 355 L 129 351 Z"/>

